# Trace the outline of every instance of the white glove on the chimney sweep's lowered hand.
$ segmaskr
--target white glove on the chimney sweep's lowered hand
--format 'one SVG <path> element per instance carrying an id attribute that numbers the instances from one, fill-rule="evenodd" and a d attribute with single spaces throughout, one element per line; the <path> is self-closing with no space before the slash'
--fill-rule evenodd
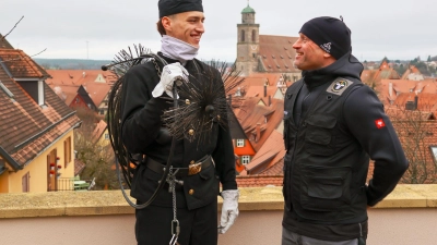
<path id="1" fill-rule="evenodd" d="M 238 217 L 238 189 L 226 189 L 222 192 L 223 206 L 220 219 L 218 233 L 224 234 Z"/>

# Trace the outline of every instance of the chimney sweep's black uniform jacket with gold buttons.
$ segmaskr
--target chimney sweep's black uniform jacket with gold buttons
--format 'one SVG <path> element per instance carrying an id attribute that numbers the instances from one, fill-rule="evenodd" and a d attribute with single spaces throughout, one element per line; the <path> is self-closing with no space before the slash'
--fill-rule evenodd
<path id="1" fill-rule="evenodd" d="M 168 63 L 177 62 L 167 58 L 165 60 Z M 190 75 L 198 77 L 190 78 L 192 83 L 223 83 L 217 70 L 211 69 L 199 60 L 188 61 L 185 68 Z M 161 66 L 160 70 L 162 69 Z M 211 71 L 215 73 L 211 81 L 206 81 L 203 76 L 199 78 L 199 74 Z M 121 137 L 129 152 L 145 155 L 165 166 L 169 156 L 172 136 L 164 128 L 161 117 L 164 110 L 173 106 L 173 99 L 165 93 L 158 98 L 152 97 L 152 90 L 158 82 L 160 77 L 152 61 L 135 65 L 126 73 L 122 85 Z M 210 166 L 196 175 L 182 177 L 184 185 L 177 185 L 178 207 L 194 209 L 216 201 L 218 181 L 223 189 L 237 188 L 231 133 L 228 128 L 223 128 L 217 123 L 214 123 L 209 140 L 205 143 L 177 140 L 172 166 L 187 168 L 191 161 L 198 161 L 205 155 L 212 156 L 215 168 Z M 156 189 L 161 176 L 144 164 L 140 164 L 133 175 L 131 196 L 140 201 L 146 201 Z M 172 207 L 172 195 L 168 189 L 163 188 L 153 205 Z"/>

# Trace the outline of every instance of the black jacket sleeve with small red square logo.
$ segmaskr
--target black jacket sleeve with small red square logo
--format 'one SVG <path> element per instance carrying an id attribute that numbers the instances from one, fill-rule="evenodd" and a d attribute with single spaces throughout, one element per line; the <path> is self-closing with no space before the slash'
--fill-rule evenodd
<path id="1" fill-rule="evenodd" d="M 408 160 L 382 103 L 368 86 L 350 93 L 343 115 L 350 132 L 375 161 L 366 189 L 367 205 L 374 206 L 393 191 L 409 168 Z"/>

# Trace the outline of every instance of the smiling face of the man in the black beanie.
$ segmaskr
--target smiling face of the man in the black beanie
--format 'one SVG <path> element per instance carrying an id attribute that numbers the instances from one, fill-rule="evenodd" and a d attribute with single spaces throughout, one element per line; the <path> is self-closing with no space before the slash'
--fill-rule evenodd
<path id="1" fill-rule="evenodd" d="M 302 71 L 318 70 L 335 62 L 331 54 L 323 51 L 302 33 L 299 33 L 299 38 L 294 42 L 293 48 L 296 50 L 293 64 Z"/>

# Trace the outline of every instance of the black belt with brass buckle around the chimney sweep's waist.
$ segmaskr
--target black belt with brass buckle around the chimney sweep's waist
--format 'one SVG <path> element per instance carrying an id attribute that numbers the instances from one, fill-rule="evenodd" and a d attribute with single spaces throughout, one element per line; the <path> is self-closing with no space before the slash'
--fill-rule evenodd
<path id="1" fill-rule="evenodd" d="M 210 167 L 212 163 L 212 158 L 210 155 L 204 156 L 199 161 L 190 163 L 188 168 L 173 168 L 173 171 L 176 172 L 176 176 L 187 176 L 198 174 L 202 169 Z M 160 162 L 149 158 L 145 160 L 145 167 L 151 169 L 153 172 L 163 174 L 165 166 Z"/>

